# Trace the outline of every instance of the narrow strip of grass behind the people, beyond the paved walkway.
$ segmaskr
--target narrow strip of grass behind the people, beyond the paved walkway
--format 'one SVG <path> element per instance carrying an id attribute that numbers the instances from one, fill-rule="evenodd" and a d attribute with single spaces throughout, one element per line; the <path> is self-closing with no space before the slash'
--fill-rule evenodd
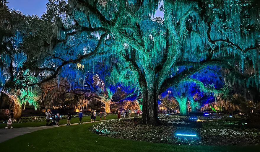
<path id="1" fill-rule="evenodd" d="M 104 117 L 103 117 L 104 118 Z M 116 119 L 117 115 L 108 115 L 106 117 L 106 120 L 108 119 Z M 97 116 L 96 120 L 100 120 L 100 117 Z M 51 121 L 50 121 L 51 122 Z M 79 123 L 79 118 L 71 118 L 71 123 Z M 82 122 L 90 122 L 90 116 L 86 116 L 82 118 Z M 67 124 L 67 119 L 61 119 L 59 122 L 60 125 Z M 41 122 L 22 122 L 22 123 L 13 123 L 14 128 L 22 128 L 22 127 L 39 127 L 39 126 L 45 126 L 46 121 Z M 0 128 L 5 128 L 6 123 L 1 123 Z"/>

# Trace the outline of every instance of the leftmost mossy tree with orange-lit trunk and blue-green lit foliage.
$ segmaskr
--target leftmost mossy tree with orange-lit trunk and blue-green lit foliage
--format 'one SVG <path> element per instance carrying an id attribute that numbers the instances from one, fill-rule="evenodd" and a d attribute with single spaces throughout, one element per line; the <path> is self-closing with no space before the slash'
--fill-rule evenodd
<path id="1" fill-rule="evenodd" d="M 14 118 L 19 118 L 22 105 L 25 108 L 29 103 L 35 108 L 39 107 L 40 89 L 37 86 L 25 87 L 25 83 L 38 80 L 22 68 L 27 54 L 21 45 L 25 37 L 33 34 L 31 24 L 37 25 L 40 19 L 11 10 L 6 3 L 5 0 L 0 1 L 0 91 L 10 97 Z"/>

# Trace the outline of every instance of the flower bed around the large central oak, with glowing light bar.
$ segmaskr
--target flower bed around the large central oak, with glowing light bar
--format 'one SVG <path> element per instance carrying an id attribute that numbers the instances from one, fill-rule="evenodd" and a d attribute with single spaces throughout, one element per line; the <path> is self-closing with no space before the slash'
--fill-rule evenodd
<path id="1" fill-rule="evenodd" d="M 116 138 L 188 145 L 255 145 L 260 143 L 260 130 L 250 128 L 244 120 L 225 115 L 184 117 L 160 115 L 161 125 L 139 125 L 132 118 L 108 120 L 90 130 Z"/>

